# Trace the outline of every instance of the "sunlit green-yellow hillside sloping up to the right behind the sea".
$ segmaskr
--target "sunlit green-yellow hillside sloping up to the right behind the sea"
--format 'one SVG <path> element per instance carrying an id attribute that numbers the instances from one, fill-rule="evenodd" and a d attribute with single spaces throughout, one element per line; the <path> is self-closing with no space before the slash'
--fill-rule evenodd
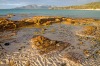
<path id="1" fill-rule="evenodd" d="M 77 6 L 53 7 L 50 9 L 100 9 L 100 2 L 92 2 L 84 5 L 77 5 Z"/>

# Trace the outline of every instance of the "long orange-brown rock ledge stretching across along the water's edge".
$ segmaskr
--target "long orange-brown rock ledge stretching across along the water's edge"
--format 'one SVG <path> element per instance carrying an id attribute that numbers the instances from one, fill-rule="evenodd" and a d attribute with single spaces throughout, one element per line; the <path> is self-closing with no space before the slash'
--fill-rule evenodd
<path id="1" fill-rule="evenodd" d="M 9 14 L 9 17 L 12 17 L 14 15 Z M 66 17 L 59 17 L 59 16 L 34 16 L 31 18 L 24 18 L 19 21 L 12 21 L 8 20 L 6 18 L 0 18 L 0 31 L 2 30 L 12 30 L 16 28 L 20 28 L 23 26 L 29 26 L 29 25 L 40 25 L 40 26 L 45 26 L 45 25 L 51 25 L 53 23 L 61 23 L 65 22 L 65 24 L 70 24 L 70 25 L 87 25 L 87 24 L 92 24 L 95 22 L 95 19 L 73 19 L 73 18 L 66 18 Z"/>

